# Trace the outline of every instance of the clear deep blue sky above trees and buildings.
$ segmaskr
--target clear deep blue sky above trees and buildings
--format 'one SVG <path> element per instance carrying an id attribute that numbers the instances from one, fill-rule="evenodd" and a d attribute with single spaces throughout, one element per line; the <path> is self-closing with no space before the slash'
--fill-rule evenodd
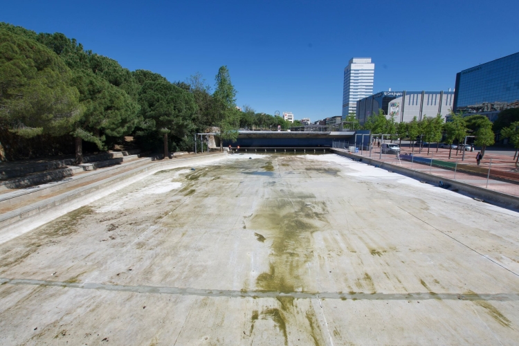
<path id="1" fill-rule="evenodd" d="M 519 51 L 519 1 L 2 1 L 0 21 L 64 33 L 170 81 L 227 65 L 237 104 L 340 115 L 343 70 L 372 57 L 374 91 L 453 88 L 462 69 Z"/>

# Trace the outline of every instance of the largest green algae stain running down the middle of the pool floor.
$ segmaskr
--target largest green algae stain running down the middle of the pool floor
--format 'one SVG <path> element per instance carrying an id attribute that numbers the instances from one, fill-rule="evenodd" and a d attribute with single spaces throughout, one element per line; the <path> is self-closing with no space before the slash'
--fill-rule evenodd
<path id="1" fill-rule="evenodd" d="M 271 165 L 268 162 L 262 168 L 270 170 Z M 251 230 L 259 242 L 268 244 L 271 249 L 268 270 L 256 278 L 257 289 L 280 293 L 305 291 L 308 285 L 305 283 L 307 264 L 313 259 L 313 233 L 329 227 L 326 203 L 316 201 L 315 195 L 298 192 L 282 181 L 264 185 L 264 188 L 267 189 L 268 197 L 262 200 L 262 204 L 245 222 L 246 229 Z M 265 242 L 266 239 L 268 242 Z M 285 345 L 289 343 L 291 326 L 298 326 L 298 332 L 302 331 L 299 318 L 305 316 L 308 322 L 304 323 L 303 329 L 309 337 L 308 341 L 313 340 L 315 345 L 326 344 L 312 307 L 301 310 L 295 306 L 297 300 L 292 297 L 278 297 L 277 301 L 277 306 L 260 310 L 259 319 L 272 320 L 282 332 Z"/>

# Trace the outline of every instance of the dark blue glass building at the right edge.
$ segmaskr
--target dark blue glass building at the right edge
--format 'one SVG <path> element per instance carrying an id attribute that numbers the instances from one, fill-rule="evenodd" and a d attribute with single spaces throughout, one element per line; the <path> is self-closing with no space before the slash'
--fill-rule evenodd
<path id="1" fill-rule="evenodd" d="M 519 107 L 519 53 L 471 67 L 456 74 L 453 111 L 497 114 Z"/>

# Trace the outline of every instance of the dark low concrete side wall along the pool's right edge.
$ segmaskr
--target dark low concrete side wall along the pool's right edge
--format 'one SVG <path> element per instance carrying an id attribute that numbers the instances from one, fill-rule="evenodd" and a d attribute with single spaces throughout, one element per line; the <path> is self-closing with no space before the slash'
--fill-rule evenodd
<path id="1" fill-rule="evenodd" d="M 460 181 L 444 178 L 443 176 L 435 176 L 432 174 L 411 170 L 410 168 L 400 167 L 397 165 L 392 165 L 390 163 L 384 163 L 382 161 L 374 160 L 373 158 L 356 156 L 354 154 L 343 152 L 337 149 L 330 149 L 330 151 L 334 154 L 345 156 L 347 158 L 352 158 L 356 161 L 358 161 L 361 158 L 363 163 L 379 165 L 379 167 L 381 168 L 385 167 L 386 169 L 392 170 L 395 173 L 409 176 L 410 178 L 417 179 L 419 181 L 426 181 L 427 183 L 430 183 L 432 185 L 438 185 L 438 182 L 441 180 L 444 183 L 448 183 L 451 185 L 450 190 L 457 189 L 459 192 L 470 194 L 473 197 L 483 199 L 484 201 L 494 203 L 498 206 L 503 206 L 515 210 L 519 209 L 519 197 L 512 196 L 511 194 L 504 194 L 502 192 L 488 190 L 467 183 L 462 183 Z"/>

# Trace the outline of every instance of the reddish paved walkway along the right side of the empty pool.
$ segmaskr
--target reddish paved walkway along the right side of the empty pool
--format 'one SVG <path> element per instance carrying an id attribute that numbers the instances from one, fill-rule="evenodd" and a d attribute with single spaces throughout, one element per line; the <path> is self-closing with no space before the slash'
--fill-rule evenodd
<path id="1" fill-rule="evenodd" d="M 410 148 L 403 148 L 403 150 L 401 150 L 401 157 L 411 153 Z M 370 157 L 370 152 L 365 150 L 362 153 L 350 152 L 350 154 L 354 154 L 359 158 Z M 519 197 L 519 172 L 513 171 L 513 167 L 515 167 L 515 161 L 512 160 L 513 156 L 489 154 L 489 152 L 487 152 L 484 160 L 477 166 L 475 162 L 475 154 L 477 154 L 477 152 L 465 152 L 465 161 L 462 161 L 461 153 L 456 157 L 455 151 L 453 150 L 451 154 L 452 157 L 449 160 L 448 149 L 439 149 L 437 153 L 436 148 L 431 148 L 430 155 L 427 156 L 427 148 L 425 151 L 422 149 L 421 154 L 419 154 L 415 148 L 415 158 L 425 158 L 428 160 L 428 163 L 418 163 L 414 160 L 410 162 L 403 158 L 399 159 L 395 154 L 381 154 L 379 148 L 375 147 L 372 149 L 371 158 L 384 163 L 406 167 L 411 170 L 429 173 L 438 176 L 438 180 L 441 180 L 441 178 L 453 179 L 479 188 L 487 188 Z M 407 157 L 410 157 L 410 155 Z M 432 165 L 430 164 L 431 158 Z M 492 158 L 491 165 L 489 165 L 490 158 Z M 450 162 L 452 163 L 452 167 L 438 167 L 438 164 L 441 163 L 437 161 Z M 457 165 L 455 164 L 456 161 Z M 487 181 L 489 166 L 491 174 Z M 500 174 L 504 176 L 495 176 Z"/>

